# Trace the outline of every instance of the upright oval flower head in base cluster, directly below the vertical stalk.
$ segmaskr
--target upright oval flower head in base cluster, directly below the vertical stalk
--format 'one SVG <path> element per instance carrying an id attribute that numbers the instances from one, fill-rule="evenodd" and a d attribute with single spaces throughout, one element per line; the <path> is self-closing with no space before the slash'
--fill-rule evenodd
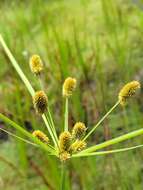
<path id="1" fill-rule="evenodd" d="M 60 151 L 64 152 L 67 151 L 71 145 L 71 134 L 68 131 L 64 131 L 60 134 L 59 137 L 59 146 L 60 146 Z"/>

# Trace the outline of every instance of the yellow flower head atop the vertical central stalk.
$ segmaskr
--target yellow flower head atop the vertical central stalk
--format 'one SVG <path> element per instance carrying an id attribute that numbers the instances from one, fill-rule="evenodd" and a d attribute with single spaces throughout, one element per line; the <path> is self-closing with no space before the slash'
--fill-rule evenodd
<path id="1" fill-rule="evenodd" d="M 76 79 L 68 77 L 63 84 L 63 96 L 70 97 L 76 88 Z"/>

